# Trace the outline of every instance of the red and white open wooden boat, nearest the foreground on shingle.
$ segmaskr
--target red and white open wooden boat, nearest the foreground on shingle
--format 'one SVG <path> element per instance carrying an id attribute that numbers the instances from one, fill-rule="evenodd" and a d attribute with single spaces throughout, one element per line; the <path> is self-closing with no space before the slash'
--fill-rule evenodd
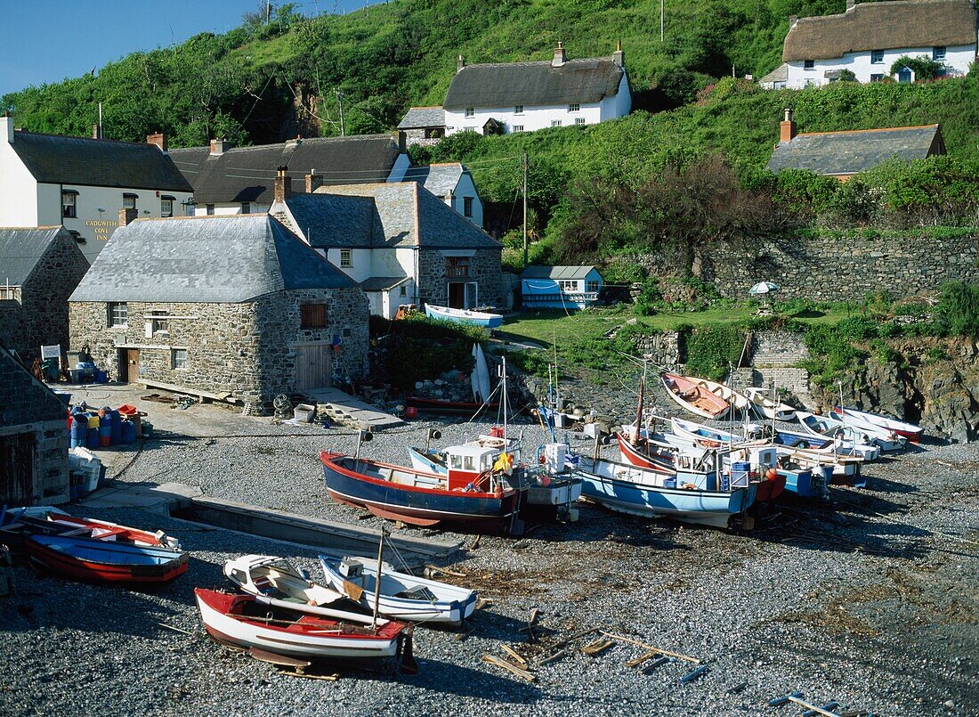
<path id="1" fill-rule="evenodd" d="M 410 656 L 410 628 L 394 620 L 337 620 L 265 597 L 204 588 L 195 588 L 194 597 L 205 629 L 221 645 L 306 660 Z"/>

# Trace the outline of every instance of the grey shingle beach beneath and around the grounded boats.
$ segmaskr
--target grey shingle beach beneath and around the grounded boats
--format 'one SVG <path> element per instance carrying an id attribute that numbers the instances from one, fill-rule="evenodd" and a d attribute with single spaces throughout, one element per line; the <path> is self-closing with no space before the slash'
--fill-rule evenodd
<path id="1" fill-rule="evenodd" d="M 138 396 L 101 390 L 114 404 Z M 378 523 L 330 502 L 323 487 L 317 454 L 352 453 L 350 429 L 272 425 L 215 406 L 140 407 L 157 425 L 154 437 L 104 454 L 121 481 L 175 481 L 211 497 Z M 407 463 L 405 447 L 423 445 L 434 425 L 443 443 L 489 427 L 411 423 L 379 434 L 363 454 Z M 541 437 L 530 421 L 517 428 L 531 445 Z M 178 536 L 190 569 L 160 590 L 133 592 L 19 564 L 16 594 L 0 597 L 0 713 L 780 716 L 801 710 L 767 702 L 799 692 L 816 704 L 835 700 L 841 712 L 979 714 L 979 444 L 926 445 L 864 473 L 865 489 L 834 487 L 828 503 L 779 503 L 744 534 L 582 504 L 577 523 L 521 538 L 485 536 L 472 549 L 473 536 L 449 536 L 466 543 L 452 564 L 466 577 L 454 581 L 491 603 L 464 632 L 417 629 L 419 674 L 350 671 L 336 682 L 283 675 L 212 643 L 194 605 L 194 587 L 221 584 L 230 557 L 282 554 L 316 575 L 315 549 L 159 513 L 84 509 Z M 535 608 L 531 643 L 520 628 Z M 640 646 L 620 641 L 584 654 L 597 634 L 539 664 L 588 628 L 708 669 L 689 684 L 679 682 L 692 669 L 682 661 L 644 674 L 626 664 Z M 525 656 L 535 683 L 481 660 L 505 656 L 500 645 Z"/>

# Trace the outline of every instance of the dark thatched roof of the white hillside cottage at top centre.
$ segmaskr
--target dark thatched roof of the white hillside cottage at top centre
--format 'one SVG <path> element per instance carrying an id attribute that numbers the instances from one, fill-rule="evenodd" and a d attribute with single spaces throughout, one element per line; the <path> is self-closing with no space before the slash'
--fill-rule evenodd
<path id="1" fill-rule="evenodd" d="M 624 72 L 612 58 L 568 60 L 559 68 L 550 61 L 467 65 L 453 75 L 443 107 L 592 104 L 618 94 Z"/>

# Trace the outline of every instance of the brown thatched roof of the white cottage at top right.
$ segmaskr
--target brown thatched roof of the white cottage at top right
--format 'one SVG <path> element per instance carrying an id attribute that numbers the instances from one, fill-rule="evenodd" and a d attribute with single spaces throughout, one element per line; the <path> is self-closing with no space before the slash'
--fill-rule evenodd
<path id="1" fill-rule="evenodd" d="M 785 35 L 782 60 L 935 45 L 976 45 L 976 10 L 969 0 L 867 2 L 839 15 L 800 18 Z"/>

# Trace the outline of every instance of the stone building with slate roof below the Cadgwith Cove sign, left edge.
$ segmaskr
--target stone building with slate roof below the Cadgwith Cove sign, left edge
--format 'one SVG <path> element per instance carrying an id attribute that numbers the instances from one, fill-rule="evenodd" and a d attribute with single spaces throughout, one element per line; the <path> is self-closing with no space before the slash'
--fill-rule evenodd
<path id="1" fill-rule="evenodd" d="M 68 348 L 68 298 L 87 269 L 63 226 L 0 228 L 0 343 L 27 361 Z"/>

